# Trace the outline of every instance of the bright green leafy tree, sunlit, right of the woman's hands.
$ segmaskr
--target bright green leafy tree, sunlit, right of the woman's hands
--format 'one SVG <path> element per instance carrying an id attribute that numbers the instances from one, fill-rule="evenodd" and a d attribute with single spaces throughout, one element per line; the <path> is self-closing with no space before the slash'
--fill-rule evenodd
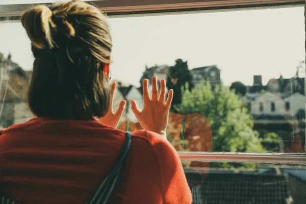
<path id="1" fill-rule="evenodd" d="M 197 89 L 182 91 L 177 111 L 199 113 L 209 119 L 214 151 L 264 152 L 258 132 L 252 129 L 251 116 L 234 90 L 221 84 L 213 92 L 209 82 L 202 82 Z"/>

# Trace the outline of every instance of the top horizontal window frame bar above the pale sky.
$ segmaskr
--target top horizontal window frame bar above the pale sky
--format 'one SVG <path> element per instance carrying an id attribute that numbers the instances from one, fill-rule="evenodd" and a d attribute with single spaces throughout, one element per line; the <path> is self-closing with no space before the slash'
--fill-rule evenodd
<path id="1" fill-rule="evenodd" d="M 149 4 L 148 2 L 143 3 L 143 1 L 140 0 L 131 0 L 128 2 L 123 0 L 120 0 L 119 2 L 104 0 L 89 3 L 92 3 L 108 15 L 305 4 L 305 2 L 301 0 L 159 0 L 155 1 L 154 5 Z M 50 3 L 46 3 L 45 5 L 49 4 Z M 24 10 L 36 5 L 39 4 L 0 5 L 0 17 L 20 17 Z"/>

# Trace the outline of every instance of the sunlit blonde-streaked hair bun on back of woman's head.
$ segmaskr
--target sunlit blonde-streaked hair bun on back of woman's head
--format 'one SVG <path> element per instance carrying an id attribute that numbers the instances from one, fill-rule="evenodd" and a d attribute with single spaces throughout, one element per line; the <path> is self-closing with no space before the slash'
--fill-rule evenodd
<path id="1" fill-rule="evenodd" d="M 54 47 L 50 28 L 55 29 L 56 25 L 52 16 L 53 12 L 48 7 L 39 5 L 25 11 L 21 17 L 22 26 L 27 31 L 32 45 L 38 49 Z"/>

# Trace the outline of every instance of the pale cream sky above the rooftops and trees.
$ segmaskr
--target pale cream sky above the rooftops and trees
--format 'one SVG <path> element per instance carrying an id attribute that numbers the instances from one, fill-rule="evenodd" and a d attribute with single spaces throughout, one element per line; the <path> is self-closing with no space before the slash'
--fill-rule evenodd
<path id="1" fill-rule="evenodd" d="M 291 78 L 305 60 L 302 6 L 112 17 L 109 23 L 112 79 L 126 85 L 139 86 L 146 65 L 171 66 L 178 58 L 187 60 L 189 69 L 217 65 L 227 86 L 252 85 L 253 75 L 262 75 L 264 84 L 280 74 Z M 30 40 L 19 22 L 0 23 L 0 52 L 11 53 L 23 69 L 32 68 Z"/>

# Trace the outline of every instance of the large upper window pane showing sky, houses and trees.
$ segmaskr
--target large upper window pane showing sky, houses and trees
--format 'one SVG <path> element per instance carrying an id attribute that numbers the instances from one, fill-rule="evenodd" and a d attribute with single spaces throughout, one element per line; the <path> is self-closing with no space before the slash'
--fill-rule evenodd
<path id="1" fill-rule="evenodd" d="M 142 81 L 174 90 L 167 130 L 178 151 L 304 152 L 304 7 L 110 18 L 118 128 L 141 129 Z M 0 126 L 34 117 L 34 57 L 20 22 L 0 23 Z M 273 102 L 273 106 L 271 104 Z M 290 105 L 289 105 L 290 104 Z"/>

